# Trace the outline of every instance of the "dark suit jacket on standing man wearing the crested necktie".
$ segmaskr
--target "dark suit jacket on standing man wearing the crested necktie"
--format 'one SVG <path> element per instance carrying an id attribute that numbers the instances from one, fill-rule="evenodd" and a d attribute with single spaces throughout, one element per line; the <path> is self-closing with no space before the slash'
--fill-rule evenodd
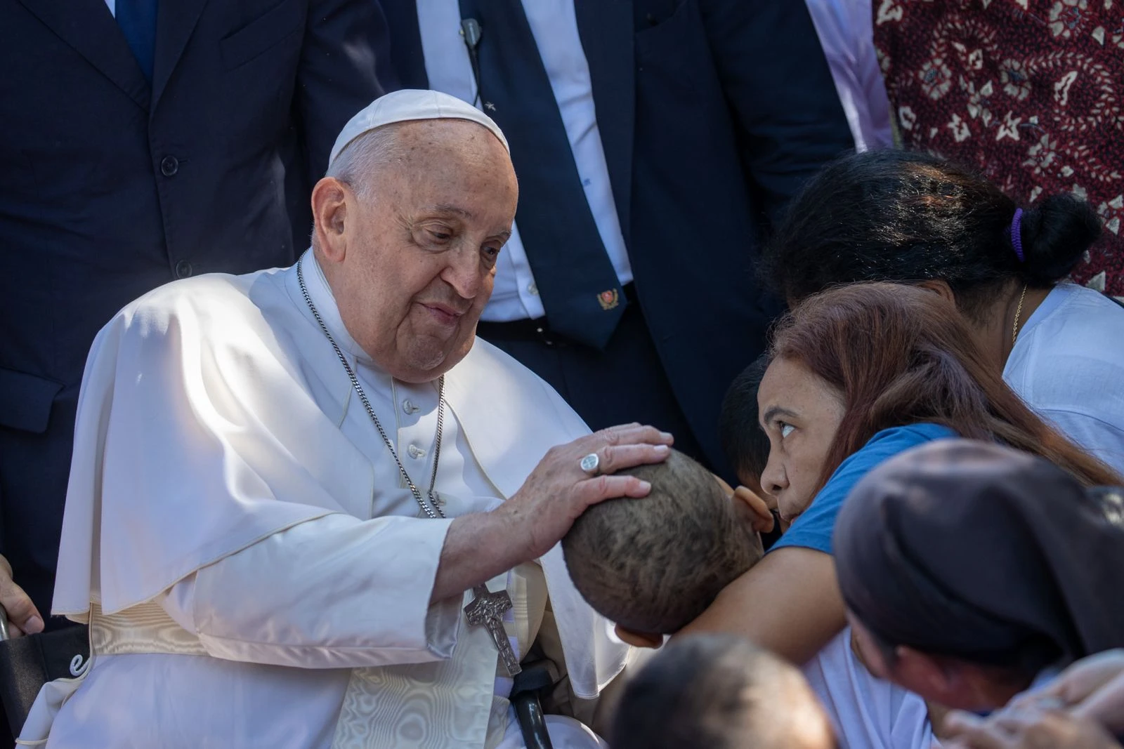
<path id="1" fill-rule="evenodd" d="M 853 148 L 846 119 L 803 0 L 574 6 L 636 293 L 720 466 L 722 398 L 779 309 L 756 291 L 758 243 L 808 176 Z M 383 8 L 402 84 L 428 88 L 414 0 Z M 534 156 L 513 153 L 516 174 Z"/>

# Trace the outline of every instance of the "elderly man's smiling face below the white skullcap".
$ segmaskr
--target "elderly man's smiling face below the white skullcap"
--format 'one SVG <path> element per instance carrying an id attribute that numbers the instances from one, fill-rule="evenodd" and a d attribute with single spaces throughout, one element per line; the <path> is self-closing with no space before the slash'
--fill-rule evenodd
<path id="1" fill-rule="evenodd" d="M 398 144 L 405 158 L 369 177 L 365 195 L 347 191 L 342 236 L 327 232 L 344 249 L 328 278 L 375 364 L 428 382 L 472 348 L 518 191 L 504 146 L 474 122 L 409 122 Z"/>

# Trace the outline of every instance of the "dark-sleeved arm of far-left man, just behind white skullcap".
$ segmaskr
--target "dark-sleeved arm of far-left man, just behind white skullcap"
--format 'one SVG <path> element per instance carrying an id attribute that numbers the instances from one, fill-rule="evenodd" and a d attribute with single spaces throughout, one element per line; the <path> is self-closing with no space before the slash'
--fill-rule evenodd
<path id="1" fill-rule="evenodd" d="M 347 120 L 397 88 L 378 0 L 312 0 L 296 90 L 309 184 L 324 176 Z"/>

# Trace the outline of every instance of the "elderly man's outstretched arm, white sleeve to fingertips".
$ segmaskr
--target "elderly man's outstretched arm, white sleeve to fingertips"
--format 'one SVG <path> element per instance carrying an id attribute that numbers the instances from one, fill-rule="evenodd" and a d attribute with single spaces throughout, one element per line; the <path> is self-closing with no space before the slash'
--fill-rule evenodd
<path id="1" fill-rule="evenodd" d="M 462 594 L 546 554 L 590 504 L 641 497 L 633 476 L 587 476 L 658 463 L 671 436 L 629 424 L 552 448 L 511 499 L 452 520 L 344 514 L 273 533 L 199 569 L 161 597 L 217 658 L 355 668 L 447 658 Z"/>

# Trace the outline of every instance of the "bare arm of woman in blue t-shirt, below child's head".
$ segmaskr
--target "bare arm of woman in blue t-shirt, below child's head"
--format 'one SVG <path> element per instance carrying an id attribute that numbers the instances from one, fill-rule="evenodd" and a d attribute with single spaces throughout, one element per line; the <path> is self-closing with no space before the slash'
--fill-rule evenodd
<path id="1" fill-rule="evenodd" d="M 810 660 L 846 624 L 835 563 L 823 551 L 767 554 L 682 630 L 746 637 L 795 664 Z"/>

